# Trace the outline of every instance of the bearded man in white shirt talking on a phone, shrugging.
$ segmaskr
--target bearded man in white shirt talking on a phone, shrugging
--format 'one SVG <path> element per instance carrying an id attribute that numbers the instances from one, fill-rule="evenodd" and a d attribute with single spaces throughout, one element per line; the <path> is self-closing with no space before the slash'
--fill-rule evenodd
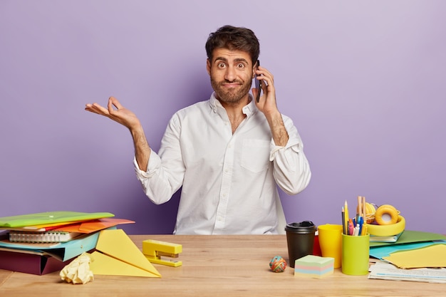
<path id="1" fill-rule="evenodd" d="M 136 115 L 115 98 L 108 108 L 85 110 L 128 127 L 135 172 L 152 202 L 165 203 L 182 187 L 175 234 L 279 233 L 284 212 L 276 185 L 297 194 L 311 178 L 299 133 L 277 108 L 273 75 L 257 65 L 254 32 L 223 26 L 209 35 L 206 51 L 214 93 L 172 116 L 158 154 Z M 263 82 L 259 102 L 249 94 L 253 78 Z"/>

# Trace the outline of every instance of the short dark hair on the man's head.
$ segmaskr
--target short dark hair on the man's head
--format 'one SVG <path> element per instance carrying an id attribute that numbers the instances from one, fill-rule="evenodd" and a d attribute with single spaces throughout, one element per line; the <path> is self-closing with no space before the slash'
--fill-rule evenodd
<path id="1" fill-rule="evenodd" d="M 212 53 L 215 48 L 227 48 L 229 50 L 246 51 L 251 56 L 254 64 L 259 58 L 259 39 L 249 28 L 222 26 L 214 33 L 209 34 L 206 41 L 207 58 L 212 61 Z"/>

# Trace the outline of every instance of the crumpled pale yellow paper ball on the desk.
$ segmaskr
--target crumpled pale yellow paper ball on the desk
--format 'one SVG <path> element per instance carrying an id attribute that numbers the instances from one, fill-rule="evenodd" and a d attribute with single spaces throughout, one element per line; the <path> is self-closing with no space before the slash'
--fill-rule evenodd
<path id="1" fill-rule="evenodd" d="M 93 281 L 93 271 L 90 271 L 91 261 L 93 260 L 88 253 L 83 253 L 78 256 L 76 259 L 71 261 L 70 264 L 63 267 L 61 273 L 59 273 L 62 281 L 73 284 L 84 284 L 88 283 L 89 281 Z"/>

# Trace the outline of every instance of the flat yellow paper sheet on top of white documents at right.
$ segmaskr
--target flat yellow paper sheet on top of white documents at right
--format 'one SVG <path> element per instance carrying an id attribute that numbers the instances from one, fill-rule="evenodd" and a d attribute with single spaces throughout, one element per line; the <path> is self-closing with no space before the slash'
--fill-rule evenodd
<path id="1" fill-rule="evenodd" d="M 383 259 L 402 269 L 446 267 L 446 244 L 434 244 L 421 249 L 397 251 Z"/>

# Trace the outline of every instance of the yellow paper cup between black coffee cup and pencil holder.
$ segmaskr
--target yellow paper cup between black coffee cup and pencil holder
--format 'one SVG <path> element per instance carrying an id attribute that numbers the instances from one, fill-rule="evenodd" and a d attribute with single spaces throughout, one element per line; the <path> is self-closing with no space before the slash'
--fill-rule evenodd
<path id="1" fill-rule="evenodd" d="M 341 267 L 342 225 L 320 225 L 318 226 L 318 234 L 322 256 L 334 258 L 334 268 Z"/>

